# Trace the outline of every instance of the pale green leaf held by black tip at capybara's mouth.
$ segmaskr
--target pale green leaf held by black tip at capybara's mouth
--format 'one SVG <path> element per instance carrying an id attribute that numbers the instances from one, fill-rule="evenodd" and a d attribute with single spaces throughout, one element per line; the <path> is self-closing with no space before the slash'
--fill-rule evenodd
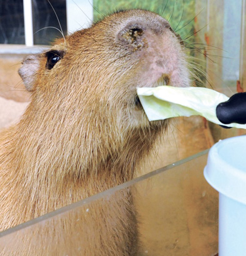
<path id="1" fill-rule="evenodd" d="M 200 115 L 218 125 L 224 124 L 216 116 L 216 107 L 219 103 L 229 100 L 229 97 L 222 93 L 199 87 L 137 88 L 137 95 L 149 121 Z M 237 123 L 224 126 L 246 129 L 246 125 Z"/>

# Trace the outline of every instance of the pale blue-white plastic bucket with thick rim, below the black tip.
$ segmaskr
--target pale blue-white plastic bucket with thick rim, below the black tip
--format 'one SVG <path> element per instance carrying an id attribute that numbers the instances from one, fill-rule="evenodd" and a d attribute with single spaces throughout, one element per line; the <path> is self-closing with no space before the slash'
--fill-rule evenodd
<path id="1" fill-rule="evenodd" d="M 212 146 L 204 176 L 219 192 L 219 256 L 246 256 L 246 136 Z"/>

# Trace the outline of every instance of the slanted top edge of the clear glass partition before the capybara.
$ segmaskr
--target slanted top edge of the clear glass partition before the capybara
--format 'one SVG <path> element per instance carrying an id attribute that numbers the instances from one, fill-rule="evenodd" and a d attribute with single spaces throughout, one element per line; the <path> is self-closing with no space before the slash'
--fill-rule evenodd
<path id="1" fill-rule="evenodd" d="M 195 158 L 199 158 L 200 156 L 204 156 L 209 152 L 209 149 L 201 151 L 195 155 L 189 156 L 187 158 L 184 158 L 182 160 L 179 160 L 175 163 L 171 163 L 170 165 L 164 166 L 162 168 L 159 168 L 157 170 L 154 170 L 150 173 L 147 173 L 145 175 L 142 175 L 140 177 L 134 178 L 130 180 L 129 182 L 122 183 L 121 185 L 118 185 L 117 187 L 110 188 L 109 190 L 105 190 L 104 192 L 97 193 L 96 195 L 92 195 L 91 197 L 87 197 L 81 201 L 71 203 L 71 205 L 67 205 L 65 207 L 59 208 L 57 210 L 54 210 L 54 212 L 46 213 L 40 217 L 34 218 L 33 220 L 29 220 L 28 222 L 21 223 L 15 227 L 9 228 L 7 230 L 4 230 L 0 232 L 0 238 L 5 237 L 7 235 L 11 235 L 11 233 L 17 232 L 21 229 L 31 227 L 32 225 L 35 225 L 39 222 L 42 222 L 44 220 L 48 220 L 49 218 L 56 217 L 59 214 L 66 213 L 69 210 L 76 209 L 78 207 L 81 207 L 83 205 L 86 205 L 87 203 L 94 202 L 100 198 L 106 197 L 107 195 L 112 195 L 113 193 L 122 190 L 124 188 L 130 187 L 134 185 L 135 183 L 142 182 L 143 180 L 146 180 L 148 178 L 152 178 L 155 175 L 158 175 L 162 172 L 166 172 L 167 170 L 171 170 L 172 168 L 175 168 L 179 165 L 182 165 L 184 163 L 187 163 L 188 161 L 194 160 Z"/>

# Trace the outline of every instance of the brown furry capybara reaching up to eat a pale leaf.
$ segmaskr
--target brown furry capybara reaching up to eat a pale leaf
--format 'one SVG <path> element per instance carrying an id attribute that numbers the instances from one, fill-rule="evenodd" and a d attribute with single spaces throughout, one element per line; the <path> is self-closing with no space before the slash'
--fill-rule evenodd
<path id="1" fill-rule="evenodd" d="M 0 230 L 130 180 L 167 126 L 149 123 L 136 87 L 189 86 L 183 48 L 165 19 L 132 10 L 24 59 L 32 101 L 0 134 Z M 81 254 L 69 255 L 135 255 L 134 222 L 130 192 L 117 193 L 85 220 L 94 237 L 81 235 Z"/>

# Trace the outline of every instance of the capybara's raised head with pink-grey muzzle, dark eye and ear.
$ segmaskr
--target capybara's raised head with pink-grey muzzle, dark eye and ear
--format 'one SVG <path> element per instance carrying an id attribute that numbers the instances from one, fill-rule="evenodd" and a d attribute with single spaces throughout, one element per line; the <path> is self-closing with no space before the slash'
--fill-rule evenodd
<path id="1" fill-rule="evenodd" d="M 63 158 L 64 172 L 79 172 L 111 160 L 121 169 L 119 155 L 128 161 L 148 151 L 165 122 L 149 123 L 136 88 L 189 86 L 183 47 L 164 18 L 132 10 L 27 57 L 19 74 L 33 92 L 21 121 L 35 145 L 28 157 L 54 155 L 53 169 Z"/>

